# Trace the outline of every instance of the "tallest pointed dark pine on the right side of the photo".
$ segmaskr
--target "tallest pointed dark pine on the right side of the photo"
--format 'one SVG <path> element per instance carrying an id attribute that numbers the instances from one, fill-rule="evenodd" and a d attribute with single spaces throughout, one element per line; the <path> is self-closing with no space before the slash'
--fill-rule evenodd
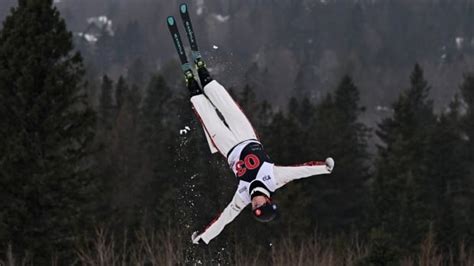
<path id="1" fill-rule="evenodd" d="M 392 117 L 379 124 L 373 183 L 375 224 L 391 235 L 393 249 L 415 251 L 428 232 L 431 180 L 427 165 L 435 125 L 430 87 L 416 64 L 411 87 L 393 104 Z"/>

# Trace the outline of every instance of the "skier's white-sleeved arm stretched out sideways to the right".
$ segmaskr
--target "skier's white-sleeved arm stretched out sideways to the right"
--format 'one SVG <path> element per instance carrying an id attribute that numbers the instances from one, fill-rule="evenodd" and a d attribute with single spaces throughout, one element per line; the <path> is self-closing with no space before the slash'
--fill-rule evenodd
<path id="1" fill-rule="evenodd" d="M 277 166 L 273 167 L 277 188 L 300 178 L 313 175 L 330 174 L 334 168 L 334 160 L 327 158 L 324 162 L 309 162 L 297 166 Z"/>

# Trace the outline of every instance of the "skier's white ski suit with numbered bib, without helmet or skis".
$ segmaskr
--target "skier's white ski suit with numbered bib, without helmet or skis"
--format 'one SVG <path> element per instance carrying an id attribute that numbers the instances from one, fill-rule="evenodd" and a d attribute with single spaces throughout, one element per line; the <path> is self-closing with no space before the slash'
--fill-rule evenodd
<path id="1" fill-rule="evenodd" d="M 239 178 L 232 201 L 203 232 L 195 232 L 193 243 L 206 244 L 219 235 L 224 227 L 251 202 L 250 187 L 260 181 L 270 192 L 286 183 L 313 175 L 329 174 L 334 161 L 308 162 L 298 166 L 276 166 L 264 153 L 255 130 L 225 88 L 213 80 L 204 87 L 204 94 L 191 97 L 196 115 L 201 120 L 211 152 L 227 157 L 230 168 Z M 219 117 L 216 109 L 222 114 Z M 260 183 L 260 184 L 261 184 Z"/>

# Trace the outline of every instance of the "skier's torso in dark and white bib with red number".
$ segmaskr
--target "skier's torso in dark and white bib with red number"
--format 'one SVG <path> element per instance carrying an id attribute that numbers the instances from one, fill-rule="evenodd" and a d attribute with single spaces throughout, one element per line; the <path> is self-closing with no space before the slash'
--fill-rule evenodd
<path id="1" fill-rule="evenodd" d="M 261 182 L 270 191 L 276 190 L 273 176 L 273 162 L 256 140 L 247 140 L 237 145 L 227 157 L 229 166 L 240 180 L 237 191 L 240 197 L 250 203 L 252 182 Z"/>

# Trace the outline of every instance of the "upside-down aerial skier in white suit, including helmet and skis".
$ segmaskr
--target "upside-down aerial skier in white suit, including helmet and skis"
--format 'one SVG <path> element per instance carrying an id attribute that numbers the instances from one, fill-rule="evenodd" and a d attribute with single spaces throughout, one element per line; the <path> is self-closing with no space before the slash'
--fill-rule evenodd
<path id="1" fill-rule="evenodd" d="M 186 4 L 180 5 L 180 14 L 202 88 L 187 61 L 176 20 L 170 16 L 167 23 L 181 60 L 193 109 L 203 126 L 211 152 L 220 152 L 225 156 L 239 180 L 237 191 L 229 205 L 206 229 L 194 232 L 191 237 L 194 244 L 199 244 L 200 241 L 208 244 L 249 204 L 256 220 L 270 222 L 278 213 L 278 207 L 272 201 L 272 194 L 277 189 L 293 180 L 330 174 L 334 160 L 329 157 L 325 161 L 312 161 L 297 166 L 275 165 L 265 153 L 245 114 L 226 89 L 209 74 L 197 47 Z"/>

